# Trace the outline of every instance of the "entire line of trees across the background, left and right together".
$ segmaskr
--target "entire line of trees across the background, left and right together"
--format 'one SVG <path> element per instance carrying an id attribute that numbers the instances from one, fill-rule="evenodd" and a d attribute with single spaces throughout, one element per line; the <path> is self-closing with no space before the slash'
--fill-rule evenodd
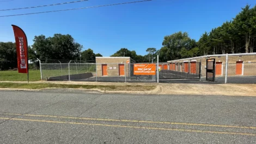
<path id="1" fill-rule="evenodd" d="M 82 51 L 83 46 L 69 35 L 54 34 L 52 37 L 39 35 L 34 37 L 32 46 L 28 46 L 28 58 L 36 63 L 36 59 L 44 62 L 95 62 L 93 49 Z M 198 41 L 191 39 L 187 32 L 177 32 L 163 37 L 160 49 L 147 48 L 145 55 L 137 55 L 136 51 L 121 48 L 111 57 L 131 57 L 134 62 L 159 61 L 198 57 L 208 54 L 253 53 L 256 46 L 256 6 L 249 5 L 231 21 L 205 32 Z M 14 42 L 0 42 L 0 70 L 17 67 L 16 45 Z"/>

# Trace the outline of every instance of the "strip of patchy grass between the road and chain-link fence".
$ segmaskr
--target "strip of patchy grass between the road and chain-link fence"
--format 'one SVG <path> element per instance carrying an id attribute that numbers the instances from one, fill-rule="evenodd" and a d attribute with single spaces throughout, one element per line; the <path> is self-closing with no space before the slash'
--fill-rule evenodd
<path id="1" fill-rule="evenodd" d="M 99 89 L 108 91 L 150 91 L 156 89 L 153 85 L 66 85 L 66 84 L 22 84 L 22 83 L 0 83 L 4 89 L 47 89 L 47 88 L 68 88 L 68 89 Z"/>

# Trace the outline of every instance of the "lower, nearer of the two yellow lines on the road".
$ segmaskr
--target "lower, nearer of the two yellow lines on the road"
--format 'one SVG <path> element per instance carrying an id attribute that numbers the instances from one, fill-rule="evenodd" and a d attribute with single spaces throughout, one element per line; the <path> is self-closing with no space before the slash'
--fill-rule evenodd
<path id="1" fill-rule="evenodd" d="M 63 124 L 81 124 L 81 125 L 88 125 L 88 126 L 105 126 L 105 127 L 119 127 L 119 128 L 137 128 L 137 129 L 169 130 L 169 131 L 180 131 L 180 132 L 196 132 L 196 133 L 256 136 L 256 134 L 249 134 L 249 133 L 215 132 L 215 131 L 190 130 L 190 129 L 172 129 L 172 128 L 156 128 L 156 127 L 121 126 L 121 125 L 97 124 L 97 123 L 78 123 L 78 122 L 62 122 L 62 121 L 29 120 L 29 119 L 22 119 L 22 118 L 7 118 L 7 117 L 0 117 L 0 119 L 16 120 L 16 121 L 31 121 L 31 122 L 63 123 Z"/>

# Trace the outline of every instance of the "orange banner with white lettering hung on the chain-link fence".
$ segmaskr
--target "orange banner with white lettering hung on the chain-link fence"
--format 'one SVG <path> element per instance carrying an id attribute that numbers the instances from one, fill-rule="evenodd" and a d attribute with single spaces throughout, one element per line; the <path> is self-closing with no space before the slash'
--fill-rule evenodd
<path id="1" fill-rule="evenodd" d="M 155 75 L 156 64 L 134 64 L 133 74 L 134 75 Z"/>

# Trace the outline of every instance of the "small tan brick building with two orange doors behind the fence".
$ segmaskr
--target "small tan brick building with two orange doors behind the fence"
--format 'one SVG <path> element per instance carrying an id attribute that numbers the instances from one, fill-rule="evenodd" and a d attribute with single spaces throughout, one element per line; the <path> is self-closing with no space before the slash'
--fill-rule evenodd
<path id="1" fill-rule="evenodd" d="M 96 57 L 96 74 L 101 76 L 129 76 L 130 57 Z"/>

